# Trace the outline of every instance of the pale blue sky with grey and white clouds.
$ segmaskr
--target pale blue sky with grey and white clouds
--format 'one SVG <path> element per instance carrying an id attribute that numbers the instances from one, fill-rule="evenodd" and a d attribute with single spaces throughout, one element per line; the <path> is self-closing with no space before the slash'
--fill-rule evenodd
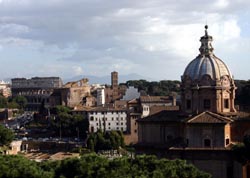
<path id="1" fill-rule="evenodd" d="M 0 79 L 180 80 L 207 24 L 215 55 L 248 80 L 249 19 L 246 0 L 0 0 Z"/>

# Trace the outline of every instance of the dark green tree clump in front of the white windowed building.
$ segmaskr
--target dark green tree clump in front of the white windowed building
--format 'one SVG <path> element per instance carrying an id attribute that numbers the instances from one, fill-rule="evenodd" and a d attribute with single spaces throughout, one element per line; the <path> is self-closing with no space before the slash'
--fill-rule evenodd
<path id="1" fill-rule="evenodd" d="M 99 150 L 117 150 L 124 146 L 123 134 L 120 131 L 103 132 L 98 130 L 96 133 L 91 133 L 87 140 L 87 147 L 96 152 Z"/>

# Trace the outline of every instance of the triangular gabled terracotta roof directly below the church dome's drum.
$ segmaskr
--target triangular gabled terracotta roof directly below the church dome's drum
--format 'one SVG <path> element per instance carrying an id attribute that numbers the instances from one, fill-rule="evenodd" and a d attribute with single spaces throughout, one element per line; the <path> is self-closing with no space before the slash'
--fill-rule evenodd
<path id="1" fill-rule="evenodd" d="M 194 117 L 186 119 L 186 123 L 192 124 L 226 124 L 232 122 L 233 120 L 228 117 L 223 117 L 221 115 L 205 111 Z"/>

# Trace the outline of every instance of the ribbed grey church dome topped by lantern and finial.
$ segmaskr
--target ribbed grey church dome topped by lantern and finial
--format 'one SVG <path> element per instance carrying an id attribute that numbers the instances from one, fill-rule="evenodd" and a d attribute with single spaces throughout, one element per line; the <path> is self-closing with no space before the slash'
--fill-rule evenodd
<path id="1" fill-rule="evenodd" d="M 220 80 L 223 76 L 232 78 L 226 64 L 213 54 L 213 38 L 208 35 L 207 28 L 206 25 L 205 36 L 200 39 L 200 54 L 187 65 L 183 77 L 189 77 L 193 81 L 201 80 L 204 75 L 209 75 L 214 81 Z"/>

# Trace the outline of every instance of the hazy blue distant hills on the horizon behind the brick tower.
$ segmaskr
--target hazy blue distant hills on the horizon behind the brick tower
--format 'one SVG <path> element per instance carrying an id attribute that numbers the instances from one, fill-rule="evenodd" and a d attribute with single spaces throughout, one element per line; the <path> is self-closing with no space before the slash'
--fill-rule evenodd
<path id="1" fill-rule="evenodd" d="M 99 84 L 111 84 L 111 74 L 110 75 L 106 75 L 106 76 L 102 76 L 102 77 L 98 77 L 98 76 L 93 76 L 93 75 L 78 75 L 69 79 L 64 79 L 63 82 L 67 83 L 70 81 L 77 81 L 80 80 L 82 78 L 88 78 L 89 79 L 89 84 L 94 84 L 94 83 L 99 83 Z M 146 77 L 132 73 L 132 74 L 128 74 L 128 75 L 119 75 L 118 74 L 118 82 L 119 83 L 125 83 L 128 80 L 140 80 L 140 79 L 146 79 Z M 150 80 L 150 79 L 146 79 L 146 80 Z"/>

